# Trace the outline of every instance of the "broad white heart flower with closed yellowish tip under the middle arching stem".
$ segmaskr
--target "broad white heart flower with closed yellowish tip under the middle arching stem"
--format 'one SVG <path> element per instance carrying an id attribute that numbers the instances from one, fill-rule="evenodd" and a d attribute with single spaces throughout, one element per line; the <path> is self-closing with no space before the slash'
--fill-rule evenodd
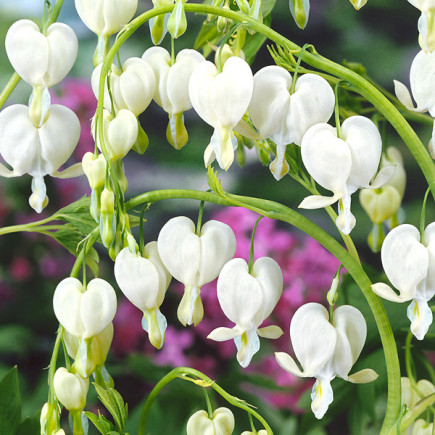
<path id="1" fill-rule="evenodd" d="M 211 220 L 197 235 L 195 224 L 185 216 L 170 219 L 157 240 L 160 258 L 169 273 L 184 284 L 178 307 L 183 325 L 196 326 L 204 315 L 201 286 L 213 281 L 236 251 L 236 237 L 226 224 Z"/>

